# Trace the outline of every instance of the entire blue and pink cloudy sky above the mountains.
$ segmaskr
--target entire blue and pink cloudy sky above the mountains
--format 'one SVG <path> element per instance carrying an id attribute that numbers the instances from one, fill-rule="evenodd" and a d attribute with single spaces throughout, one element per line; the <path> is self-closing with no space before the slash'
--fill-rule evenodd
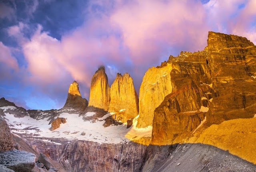
<path id="1" fill-rule="evenodd" d="M 256 44 L 256 0 L 0 0 L 0 97 L 60 109 L 76 80 L 88 99 L 104 65 L 110 85 L 180 51 L 202 51 L 208 31 Z"/>

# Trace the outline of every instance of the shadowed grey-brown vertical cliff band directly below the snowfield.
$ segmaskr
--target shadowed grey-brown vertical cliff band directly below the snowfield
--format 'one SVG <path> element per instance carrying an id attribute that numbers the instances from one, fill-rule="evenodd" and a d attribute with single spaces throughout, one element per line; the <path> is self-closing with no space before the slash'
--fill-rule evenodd
<path id="1" fill-rule="evenodd" d="M 76 172 L 136 172 L 141 167 L 147 146 L 124 142 L 100 144 L 82 140 L 60 140 L 61 145 L 26 139 L 37 152 L 43 152 L 61 162 L 68 171 Z"/>

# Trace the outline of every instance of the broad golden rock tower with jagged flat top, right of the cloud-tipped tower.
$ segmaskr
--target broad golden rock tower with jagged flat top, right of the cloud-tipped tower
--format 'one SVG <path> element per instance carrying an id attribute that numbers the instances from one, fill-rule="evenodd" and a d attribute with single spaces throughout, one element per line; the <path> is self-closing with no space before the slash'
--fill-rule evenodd
<path id="1" fill-rule="evenodd" d="M 138 115 L 138 95 L 134 89 L 132 77 L 128 73 L 117 73 L 111 85 L 109 112 L 118 121 L 126 123 Z"/>

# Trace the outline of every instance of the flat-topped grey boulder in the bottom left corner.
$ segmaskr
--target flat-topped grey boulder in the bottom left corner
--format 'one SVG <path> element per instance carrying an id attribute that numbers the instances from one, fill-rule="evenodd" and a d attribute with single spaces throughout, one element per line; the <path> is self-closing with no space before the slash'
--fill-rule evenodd
<path id="1" fill-rule="evenodd" d="M 35 160 L 36 156 L 26 151 L 9 150 L 0 153 L 0 165 L 16 172 L 32 172 Z"/>

